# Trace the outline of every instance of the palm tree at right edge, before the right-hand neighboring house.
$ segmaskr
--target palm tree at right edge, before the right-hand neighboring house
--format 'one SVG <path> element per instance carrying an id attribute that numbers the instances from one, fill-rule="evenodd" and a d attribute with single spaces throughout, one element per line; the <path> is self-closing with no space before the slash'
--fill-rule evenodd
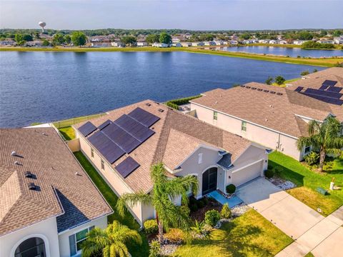
<path id="1" fill-rule="evenodd" d="M 343 147 L 342 124 L 334 117 L 309 122 L 309 136 L 301 136 L 297 141 L 299 151 L 306 146 L 319 149 L 319 170 L 323 171 L 324 159 L 328 151 Z"/>

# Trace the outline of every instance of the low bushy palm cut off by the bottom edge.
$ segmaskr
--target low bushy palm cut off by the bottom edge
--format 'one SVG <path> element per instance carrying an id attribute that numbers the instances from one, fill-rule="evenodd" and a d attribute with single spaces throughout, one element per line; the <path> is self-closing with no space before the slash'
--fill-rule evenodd
<path id="1" fill-rule="evenodd" d="M 141 244 L 141 236 L 135 230 L 113 221 L 107 228 L 94 228 L 88 233 L 88 238 L 82 243 L 82 257 L 96 256 L 102 252 L 103 257 L 128 257 L 126 243 Z"/>

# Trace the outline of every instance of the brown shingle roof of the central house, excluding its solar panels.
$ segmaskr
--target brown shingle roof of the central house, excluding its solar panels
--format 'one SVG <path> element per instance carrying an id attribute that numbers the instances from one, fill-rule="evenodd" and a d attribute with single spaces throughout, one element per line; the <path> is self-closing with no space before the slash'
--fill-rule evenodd
<path id="1" fill-rule="evenodd" d="M 151 105 L 146 106 L 147 103 Z M 182 114 L 179 111 L 150 100 L 109 111 L 109 114 L 106 116 L 92 119 L 91 123 L 99 126 L 107 119 L 114 121 L 123 114 L 129 114 L 136 107 L 159 116 L 160 120 L 151 126 L 151 129 L 155 131 L 153 136 L 131 153 L 119 158 L 112 165 L 115 169 L 116 165 L 121 163 L 127 156 L 131 156 L 140 164 L 139 168 L 136 168 L 129 176 L 123 178 L 133 191 L 147 192 L 152 188 L 150 179 L 150 167 L 152 164 L 163 162 L 168 168 L 173 170 L 201 144 L 224 149 L 232 154 L 233 161 L 251 144 L 244 138 L 205 124 L 192 116 Z M 159 109 L 162 109 L 163 112 L 160 112 Z M 76 124 L 75 128 L 79 128 L 82 124 L 84 123 Z"/>

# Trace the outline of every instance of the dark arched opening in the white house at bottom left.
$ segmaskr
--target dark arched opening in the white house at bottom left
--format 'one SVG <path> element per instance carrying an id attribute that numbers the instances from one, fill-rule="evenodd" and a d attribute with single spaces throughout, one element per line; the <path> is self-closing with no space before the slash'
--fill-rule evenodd
<path id="1" fill-rule="evenodd" d="M 26 239 L 16 248 L 14 257 L 46 257 L 44 240 L 38 237 Z"/>

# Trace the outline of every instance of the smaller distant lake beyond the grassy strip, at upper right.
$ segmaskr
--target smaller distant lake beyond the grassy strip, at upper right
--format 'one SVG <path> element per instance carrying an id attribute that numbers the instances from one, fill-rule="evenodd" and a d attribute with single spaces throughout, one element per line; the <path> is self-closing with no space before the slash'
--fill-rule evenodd
<path id="1" fill-rule="evenodd" d="M 291 57 L 304 56 L 319 58 L 330 56 L 343 56 L 342 50 L 314 50 L 278 46 L 224 46 L 216 47 L 215 49 L 222 51 L 241 51 L 252 54 L 274 54 Z"/>

